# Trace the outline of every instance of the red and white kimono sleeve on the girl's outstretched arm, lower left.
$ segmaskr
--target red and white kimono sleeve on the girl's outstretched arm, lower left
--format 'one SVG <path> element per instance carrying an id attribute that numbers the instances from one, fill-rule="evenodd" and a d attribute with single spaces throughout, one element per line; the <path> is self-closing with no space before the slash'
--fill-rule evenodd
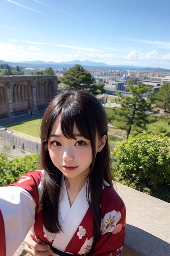
<path id="1" fill-rule="evenodd" d="M 35 179 L 33 176 L 34 174 L 28 173 L 14 184 L 0 187 L 0 230 L 3 231 L 1 248 L 4 248 L 4 252 L 0 253 L 2 256 L 15 253 L 35 222 L 37 186 L 41 176 L 38 175 L 39 178 Z"/>

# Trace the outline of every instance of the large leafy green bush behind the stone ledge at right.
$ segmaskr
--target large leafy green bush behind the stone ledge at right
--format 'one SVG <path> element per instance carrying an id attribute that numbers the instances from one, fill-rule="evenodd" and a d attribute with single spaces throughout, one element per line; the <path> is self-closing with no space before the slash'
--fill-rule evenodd
<path id="1" fill-rule="evenodd" d="M 146 132 L 117 143 L 112 152 L 116 181 L 154 195 L 167 193 L 170 201 L 170 139 Z M 159 194 L 160 195 L 160 194 Z M 164 199 L 165 198 L 164 195 Z"/>

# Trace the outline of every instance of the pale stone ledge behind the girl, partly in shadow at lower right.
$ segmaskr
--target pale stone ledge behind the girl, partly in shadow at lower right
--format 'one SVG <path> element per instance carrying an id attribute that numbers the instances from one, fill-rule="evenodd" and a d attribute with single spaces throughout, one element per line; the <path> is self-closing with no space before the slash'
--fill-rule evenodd
<path id="1" fill-rule="evenodd" d="M 170 255 L 170 203 L 125 185 L 114 187 L 126 205 L 126 236 L 121 256 Z M 27 254 L 23 245 L 14 256 Z"/>

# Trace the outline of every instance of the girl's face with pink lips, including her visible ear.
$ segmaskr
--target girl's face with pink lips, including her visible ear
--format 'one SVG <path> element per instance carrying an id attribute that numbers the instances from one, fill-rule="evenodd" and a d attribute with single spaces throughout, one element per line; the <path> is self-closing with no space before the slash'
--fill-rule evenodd
<path id="1" fill-rule="evenodd" d="M 74 125 L 74 139 L 67 139 L 60 128 L 60 116 L 56 119 L 48 138 L 48 151 L 53 164 L 67 178 L 81 182 L 87 177 L 92 163 L 90 140 L 84 138 Z M 96 138 L 96 153 L 101 150 L 101 140 Z M 102 147 L 103 148 L 103 147 Z"/>

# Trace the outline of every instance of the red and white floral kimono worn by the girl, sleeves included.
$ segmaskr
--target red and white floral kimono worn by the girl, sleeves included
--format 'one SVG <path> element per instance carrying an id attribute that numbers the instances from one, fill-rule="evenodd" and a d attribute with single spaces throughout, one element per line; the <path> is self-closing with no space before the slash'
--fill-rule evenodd
<path id="1" fill-rule="evenodd" d="M 20 225 L 23 225 L 21 228 L 24 229 L 24 232 L 22 231 L 22 236 L 20 236 L 22 237 L 22 241 L 34 223 L 32 231 L 35 233 L 38 242 L 49 244 L 62 252 L 73 255 L 83 255 L 88 253 L 93 243 L 94 231 L 93 217 L 86 198 L 86 187 L 88 183 L 84 185 L 70 207 L 65 181 L 64 178 L 62 178 L 58 209 L 59 222 L 62 231 L 58 234 L 53 234 L 45 229 L 42 222 L 42 210 L 39 202 L 39 196 L 42 192 L 42 178 L 43 171 L 29 172 L 23 175 L 16 183 L 11 184 L 10 187 L 6 187 L 6 189 L 17 187 L 18 192 L 15 191 L 15 193 L 22 193 L 22 195 L 18 197 L 19 208 L 21 208 L 21 212 L 18 215 L 18 223 L 23 219 L 23 214 L 26 214 L 27 216 L 27 220 L 25 220 L 24 223 L 22 220 Z M 93 253 L 91 253 L 91 255 L 94 256 L 120 256 L 125 239 L 125 205 L 114 188 L 107 187 L 107 185 L 108 184 L 104 181 L 101 203 L 101 237 L 96 243 Z M 27 211 L 30 212 L 29 214 L 26 213 L 26 209 L 22 205 L 23 198 L 25 198 L 25 204 L 29 205 L 27 206 Z M 2 196 L 2 200 L 8 201 L 5 194 Z M 33 213 L 36 216 L 36 220 L 34 220 L 32 216 Z M 3 211 L 2 215 L 4 216 Z M 15 216 L 15 218 L 17 218 L 17 216 Z M 7 235 L 8 230 L 6 231 L 6 229 L 9 227 L 6 225 L 5 219 L 4 223 L 7 250 L 11 242 Z M 13 225 L 11 225 L 11 229 L 13 229 Z M 19 236 L 18 230 L 12 232 L 16 233 L 16 237 Z M 15 244 L 17 244 L 16 237 Z M 17 247 L 22 241 L 19 241 Z M 15 250 L 16 249 L 17 248 L 15 248 Z M 13 253 L 14 252 L 15 251 L 13 251 Z M 56 254 L 54 253 L 53 255 Z M 6 253 L 6 256 L 12 256 L 12 254 Z"/>

